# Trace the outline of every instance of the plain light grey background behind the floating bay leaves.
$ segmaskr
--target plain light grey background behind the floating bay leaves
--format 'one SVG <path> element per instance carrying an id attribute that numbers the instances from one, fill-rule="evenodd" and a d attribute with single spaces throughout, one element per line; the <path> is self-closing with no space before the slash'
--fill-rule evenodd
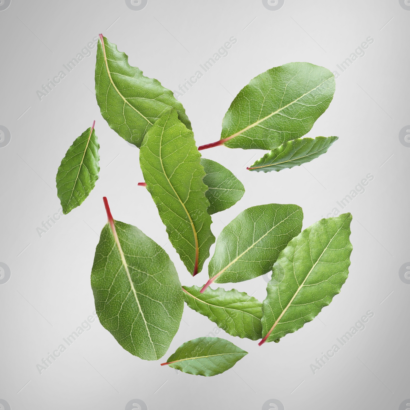
<path id="1" fill-rule="evenodd" d="M 0 285 L 0 399 L 12 410 L 124 409 L 132 399 L 149 410 L 261 409 L 269 399 L 286 410 L 398 409 L 410 397 L 410 285 L 399 278 L 400 266 L 410 261 L 410 148 L 399 141 L 399 131 L 410 124 L 409 21 L 410 11 L 398 0 L 286 0 L 277 11 L 261 0 L 148 0 L 140 11 L 124 0 L 11 0 L 0 11 L 0 125 L 11 132 L 10 143 L 0 148 L 0 262 L 11 270 Z M 150 195 L 137 187 L 139 150 L 100 115 L 93 95 L 96 48 L 48 96 L 41 101 L 36 96 L 100 32 L 129 55 L 131 65 L 172 90 L 235 36 L 229 55 L 180 97 L 198 145 L 219 139 L 233 96 L 266 69 L 307 61 L 340 74 L 333 102 L 307 134 L 339 136 L 319 159 L 264 174 L 246 171 L 262 151 L 203 151 L 246 188 L 239 203 L 213 216 L 216 236 L 241 210 L 262 203 L 301 205 L 306 228 L 334 207 L 341 210 L 336 201 L 374 175 L 343 210 L 353 214 L 353 253 L 342 292 L 278 344 L 258 347 L 221 331 L 219 336 L 249 354 L 219 376 L 191 376 L 160 367 L 163 360 L 140 360 L 98 320 L 48 369 L 41 374 L 36 369 L 94 310 L 90 271 L 106 223 L 102 196 L 115 219 L 137 225 L 165 246 L 183 284 L 207 279 L 206 266 L 191 278 Z M 374 42 L 365 55 L 342 73 L 337 64 L 369 36 Z M 39 237 L 36 228 L 59 211 L 57 167 L 94 119 L 100 180 L 81 207 Z M 235 284 L 260 300 L 265 287 L 264 278 Z M 368 310 L 374 317 L 366 328 L 313 374 L 310 364 Z M 213 322 L 185 307 L 164 359 L 214 329 Z"/>

